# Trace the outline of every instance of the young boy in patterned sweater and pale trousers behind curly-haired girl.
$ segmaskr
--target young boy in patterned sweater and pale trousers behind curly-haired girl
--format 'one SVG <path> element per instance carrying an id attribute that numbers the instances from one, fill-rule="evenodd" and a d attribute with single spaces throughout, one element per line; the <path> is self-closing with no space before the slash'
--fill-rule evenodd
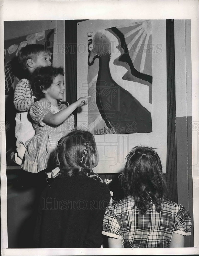
<path id="1" fill-rule="evenodd" d="M 27 78 L 37 67 L 51 66 L 51 53 L 49 49 L 45 49 L 44 45 L 26 45 L 18 52 L 19 62 L 25 71 Z M 35 135 L 32 126 L 32 120 L 29 116 L 30 107 L 37 101 L 33 97 L 33 93 L 29 84 L 29 80 L 21 79 L 14 91 L 14 105 L 17 110 L 15 137 L 17 152 L 14 154 L 13 161 L 21 165 L 26 151 L 26 141 Z M 63 104 L 62 104 L 63 106 Z M 66 107 L 66 106 L 65 106 Z M 61 108 L 61 107 L 60 107 Z M 63 107 L 64 108 L 64 107 Z"/>

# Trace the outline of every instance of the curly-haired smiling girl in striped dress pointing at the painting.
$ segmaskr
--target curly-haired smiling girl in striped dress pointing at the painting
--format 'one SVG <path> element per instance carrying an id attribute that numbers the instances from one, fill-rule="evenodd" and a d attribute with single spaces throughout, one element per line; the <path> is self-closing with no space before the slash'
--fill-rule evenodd
<path id="1" fill-rule="evenodd" d="M 28 172 L 38 173 L 49 167 L 58 141 L 74 129 L 72 112 L 88 103 L 88 98 L 84 97 L 63 110 L 58 108 L 58 100 L 63 100 L 65 91 L 63 75 L 63 68 L 52 66 L 39 67 L 32 73 L 31 88 L 40 100 L 30 108 L 35 136 L 27 141 L 22 165 L 22 168 Z"/>

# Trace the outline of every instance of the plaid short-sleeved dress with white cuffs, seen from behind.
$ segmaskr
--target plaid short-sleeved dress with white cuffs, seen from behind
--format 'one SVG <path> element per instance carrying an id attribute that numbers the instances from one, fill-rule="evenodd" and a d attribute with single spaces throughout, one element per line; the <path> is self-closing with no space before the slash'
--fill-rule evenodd
<path id="1" fill-rule="evenodd" d="M 121 239 L 123 248 L 165 248 L 173 232 L 191 235 L 190 213 L 183 205 L 165 199 L 160 213 L 153 204 L 146 214 L 133 206 L 134 197 L 128 196 L 109 203 L 104 215 L 102 234 Z"/>

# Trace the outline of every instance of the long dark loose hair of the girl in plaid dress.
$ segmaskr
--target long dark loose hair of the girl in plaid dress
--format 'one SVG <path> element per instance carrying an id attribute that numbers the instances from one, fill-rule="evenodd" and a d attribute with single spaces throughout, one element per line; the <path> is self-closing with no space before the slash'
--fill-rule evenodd
<path id="1" fill-rule="evenodd" d="M 155 204 L 162 209 L 167 185 L 162 175 L 160 157 L 153 148 L 136 146 L 126 157 L 126 165 L 120 176 L 126 196 L 132 195 L 141 214 Z"/>

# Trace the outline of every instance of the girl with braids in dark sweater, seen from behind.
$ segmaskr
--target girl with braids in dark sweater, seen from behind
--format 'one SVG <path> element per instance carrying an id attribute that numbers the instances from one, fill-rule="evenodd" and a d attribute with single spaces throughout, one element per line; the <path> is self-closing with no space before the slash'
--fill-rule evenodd
<path id="1" fill-rule="evenodd" d="M 59 175 L 41 195 L 35 241 L 38 248 L 100 248 L 108 187 L 92 170 L 98 164 L 94 136 L 73 130 L 58 143 Z"/>

